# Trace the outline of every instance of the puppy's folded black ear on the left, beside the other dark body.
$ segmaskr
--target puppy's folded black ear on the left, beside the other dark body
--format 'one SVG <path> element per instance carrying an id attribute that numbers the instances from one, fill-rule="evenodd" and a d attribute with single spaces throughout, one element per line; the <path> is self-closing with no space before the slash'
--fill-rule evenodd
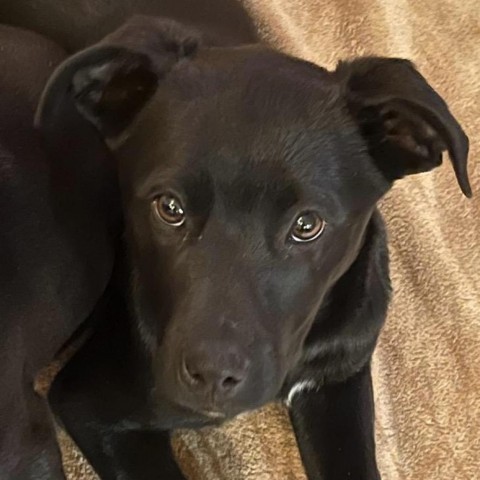
<path id="1" fill-rule="evenodd" d="M 158 82 L 177 62 L 194 55 L 198 42 L 176 22 L 133 17 L 57 68 L 43 92 L 36 125 L 49 131 L 61 122 L 65 104 L 73 104 L 104 138 L 117 137 L 155 93 Z"/>

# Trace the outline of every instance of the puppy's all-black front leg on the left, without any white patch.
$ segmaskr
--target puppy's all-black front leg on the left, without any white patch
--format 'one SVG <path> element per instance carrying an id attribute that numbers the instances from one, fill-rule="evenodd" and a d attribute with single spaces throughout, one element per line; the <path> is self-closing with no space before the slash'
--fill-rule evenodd
<path id="1" fill-rule="evenodd" d="M 140 380 L 127 311 L 108 290 L 90 319 L 95 333 L 52 383 L 50 407 L 101 480 L 185 480 L 170 427 L 152 426 L 150 384 Z"/>

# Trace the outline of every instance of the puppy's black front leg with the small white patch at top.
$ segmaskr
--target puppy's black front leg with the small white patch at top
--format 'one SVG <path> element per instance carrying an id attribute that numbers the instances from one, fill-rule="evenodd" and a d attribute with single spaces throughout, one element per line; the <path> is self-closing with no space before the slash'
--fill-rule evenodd
<path id="1" fill-rule="evenodd" d="M 309 480 L 379 480 L 370 365 L 342 383 L 291 391 L 290 416 Z"/>

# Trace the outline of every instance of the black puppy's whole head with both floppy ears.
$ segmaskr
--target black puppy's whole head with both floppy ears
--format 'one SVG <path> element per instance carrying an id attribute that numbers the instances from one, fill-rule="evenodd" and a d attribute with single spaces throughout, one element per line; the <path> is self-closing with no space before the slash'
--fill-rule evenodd
<path id="1" fill-rule="evenodd" d="M 135 18 L 68 60 L 37 122 L 73 103 L 118 162 L 132 300 L 156 393 L 232 415 L 279 391 L 392 182 L 468 141 L 406 60 L 329 72 Z"/>

